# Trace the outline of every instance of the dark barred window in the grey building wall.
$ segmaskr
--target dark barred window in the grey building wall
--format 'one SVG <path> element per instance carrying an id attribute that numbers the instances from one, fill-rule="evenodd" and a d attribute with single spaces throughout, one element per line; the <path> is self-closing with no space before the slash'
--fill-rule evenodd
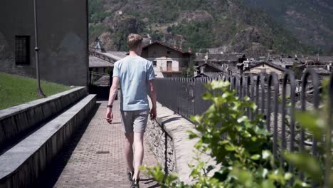
<path id="1" fill-rule="evenodd" d="M 15 36 L 15 63 L 30 64 L 30 36 Z"/>

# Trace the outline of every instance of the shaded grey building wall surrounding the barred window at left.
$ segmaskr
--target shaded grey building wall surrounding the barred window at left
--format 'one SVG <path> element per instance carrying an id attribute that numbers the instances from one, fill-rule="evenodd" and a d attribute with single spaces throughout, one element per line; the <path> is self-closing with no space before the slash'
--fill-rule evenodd
<path id="1" fill-rule="evenodd" d="M 86 0 L 37 1 L 42 80 L 88 84 Z M 33 0 L 5 0 L 0 6 L 0 72 L 36 78 Z M 16 66 L 15 36 L 30 36 L 30 64 Z"/>

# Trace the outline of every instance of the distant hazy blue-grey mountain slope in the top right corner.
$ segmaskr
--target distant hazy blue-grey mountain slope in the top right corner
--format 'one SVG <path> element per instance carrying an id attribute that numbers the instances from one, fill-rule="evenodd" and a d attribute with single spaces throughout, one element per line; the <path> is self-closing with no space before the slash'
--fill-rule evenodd
<path id="1" fill-rule="evenodd" d="M 263 9 L 295 34 L 298 40 L 317 48 L 333 48 L 332 0 L 244 0 Z"/>

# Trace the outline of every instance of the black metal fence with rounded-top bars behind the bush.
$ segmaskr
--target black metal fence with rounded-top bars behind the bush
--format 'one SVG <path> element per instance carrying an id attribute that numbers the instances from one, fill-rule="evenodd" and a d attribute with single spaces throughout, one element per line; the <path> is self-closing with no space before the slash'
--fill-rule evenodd
<path id="1" fill-rule="evenodd" d="M 292 113 L 294 109 L 304 111 L 312 108 L 316 110 L 323 103 L 323 86 L 319 80 L 319 75 L 312 68 L 308 68 L 302 76 L 302 80 L 298 82 L 295 80 L 295 75 L 288 71 L 282 80 L 277 78 L 276 73 L 221 74 L 216 78 L 157 78 L 155 87 L 159 103 L 190 120 L 191 115 L 199 115 L 211 105 L 211 102 L 201 98 L 206 92 L 204 85 L 211 80 L 228 80 L 231 83 L 230 89 L 236 90 L 236 95 L 240 98 L 246 95 L 258 105 L 258 109 L 254 113 L 250 113 L 248 110 L 248 117 L 253 118 L 258 114 L 264 115 L 267 129 L 273 132 L 273 155 L 275 159 L 281 161 L 281 164 L 283 164 L 284 159 L 280 155 L 280 151 L 285 149 L 291 152 L 303 152 L 305 148 L 310 148 L 312 156 L 318 159 L 324 154 L 327 156 L 324 162 L 324 183 L 328 187 L 329 175 L 332 170 L 330 140 L 332 136 L 333 73 L 329 79 L 327 86 L 329 115 L 327 120 L 324 120 L 327 131 L 322 140 L 316 140 L 311 135 L 309 136 L 309 132 L 300 128 L 295 122 L 294 113 Z M 279 101 L 279 98 L 282 98 L 282 101 Z M 324 152 L 319 151 L 319 143 L 323 145 Z M 288 170 L 294 172 L 292 165 Z M 302 172 L 298 174 L 300 179 L 304 179 Z M 317 186 L 312 183 L 312 187 Z"/>

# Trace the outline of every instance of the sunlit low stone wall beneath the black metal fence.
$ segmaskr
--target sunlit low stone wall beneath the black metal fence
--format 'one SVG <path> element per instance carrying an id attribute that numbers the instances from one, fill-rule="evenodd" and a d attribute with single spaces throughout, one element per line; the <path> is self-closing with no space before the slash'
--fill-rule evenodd
<path id="1" fill-rule="evenodd" d="M 157 103 L 157 118 L 149 120 L 146 132 L 149 147 L 164 172 L 176 172 L 179 180 L 188 184 L 193 182 L 189 177 L 189 164 L 196 164 L 194 145 L 199 140 L 189 140 L 189 130 L 196 132 L 194 124 Z M 204 161 L 211 160 L 208 155 L 200 157 Z M 214 164 L 214 161 L 211 160 L 210 164 Z"/>

